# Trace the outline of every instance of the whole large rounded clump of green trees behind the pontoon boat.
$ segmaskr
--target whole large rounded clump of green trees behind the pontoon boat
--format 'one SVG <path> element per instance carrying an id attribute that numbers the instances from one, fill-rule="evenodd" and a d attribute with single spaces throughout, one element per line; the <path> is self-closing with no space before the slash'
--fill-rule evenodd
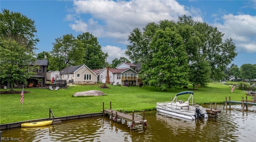
<path id="1" fill-rule="evenodd" d="M 223 42 L 223 35 L 216 27 L 184 15 L 177 22 L 161 20 L 143 30 L 135 28 L 125 53 L 132 61 L 141 62 L 144 84 L 180 86 L 189 79 L 205 85 L 210 78 L 224 78 L 225 67 L 237 55 L 232 39 Z"/>

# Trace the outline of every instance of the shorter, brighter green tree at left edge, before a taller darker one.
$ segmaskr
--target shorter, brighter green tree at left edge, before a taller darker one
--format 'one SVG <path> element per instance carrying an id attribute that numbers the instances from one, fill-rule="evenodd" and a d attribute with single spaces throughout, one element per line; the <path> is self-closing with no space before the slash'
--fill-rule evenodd
<path id="1" fill-rule="evenodd" d="M 35 62 L 28 48 L 21 46 L 15 40 L 1 40 L 0 43 L 0 78 L 2 83 L 10 82 L 11 90 L 16 83 L 27 83 L 27 79 L 33 76 L 36 69 L 30 67 Z M 30 72 L 28 72 L 28 69 Z"/>

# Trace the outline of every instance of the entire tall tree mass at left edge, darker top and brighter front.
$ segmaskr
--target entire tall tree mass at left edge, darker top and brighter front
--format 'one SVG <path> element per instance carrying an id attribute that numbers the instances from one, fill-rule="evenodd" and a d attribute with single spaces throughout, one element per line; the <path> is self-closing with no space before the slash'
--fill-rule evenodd
<path id="1" fill-rule="evenodd" d="M 36 32 L 34 20 L 25 15 L 6 9 L 0 13 L 0 79 L 10 82 L 11 90 L 15 83 L 26 83 L 35 74 L 28 68 L 36 61 Z"/>

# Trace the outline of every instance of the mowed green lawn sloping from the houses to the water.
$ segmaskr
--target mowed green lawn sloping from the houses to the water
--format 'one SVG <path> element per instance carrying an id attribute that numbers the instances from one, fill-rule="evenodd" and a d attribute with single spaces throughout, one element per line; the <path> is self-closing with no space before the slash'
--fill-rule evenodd
<path id="1" fill-rule="evenodd" d="M 178 92 L 189 89 L 178 88 L 169 89 L 165 92 L 158 88 L 143 86 L 112 86 L 110 88 L 100 88 L 101 84 L 94 86 L 77 85 L 59 90 L 49 90 L 41 88 L 24 88 L 30 93 L 24 94 L 24 103 L 20 104 L 20 94 L 0 94 L 0 124 L 19 122 L 49 117 L 49 108 L 52 109 L 55 117 L 70 116 L 76 114 L 88 114 L 101 112 L 102 102 L 105 108 L 110 107 L 112 101 L 113 110 L 142 111 L 154 110 L 156 102 L 170 101 Z M 194 102 L 198 104 L 222 103 L 225 97 L 231 96 L 231 100 L 241 100 L 246 96 L 242 90 L 235 89 L 231 92 L 232 86 L 221 83 L 211 83 L 208 87 L 196 88 L 194 92 Z M 1 89 L 4 90 L 4 89 Z M 16 89 L 22 90 L 22 89 Z M 107 96 L 72 97 L 76 92 L 88 90 L 100 90 Z M 182 98 L 181 98 L 182 97 Z M 187 96 L 182 95 L 181 100 L 186 100 Z M 22 112 L 21 112 L 22 110 Z"/>

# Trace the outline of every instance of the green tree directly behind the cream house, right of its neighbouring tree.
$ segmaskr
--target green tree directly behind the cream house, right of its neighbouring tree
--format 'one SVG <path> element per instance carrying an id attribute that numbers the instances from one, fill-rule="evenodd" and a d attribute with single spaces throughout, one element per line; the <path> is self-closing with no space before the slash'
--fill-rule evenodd
<path id="1" fill-rule="evenodd" d="M 83 43 L 84 64 L 90 69 L 103 68 L 106 66 L 107 53 L 102 52 L 96 37 L 89 32 L 80 34 L 77 39 Z"/>

